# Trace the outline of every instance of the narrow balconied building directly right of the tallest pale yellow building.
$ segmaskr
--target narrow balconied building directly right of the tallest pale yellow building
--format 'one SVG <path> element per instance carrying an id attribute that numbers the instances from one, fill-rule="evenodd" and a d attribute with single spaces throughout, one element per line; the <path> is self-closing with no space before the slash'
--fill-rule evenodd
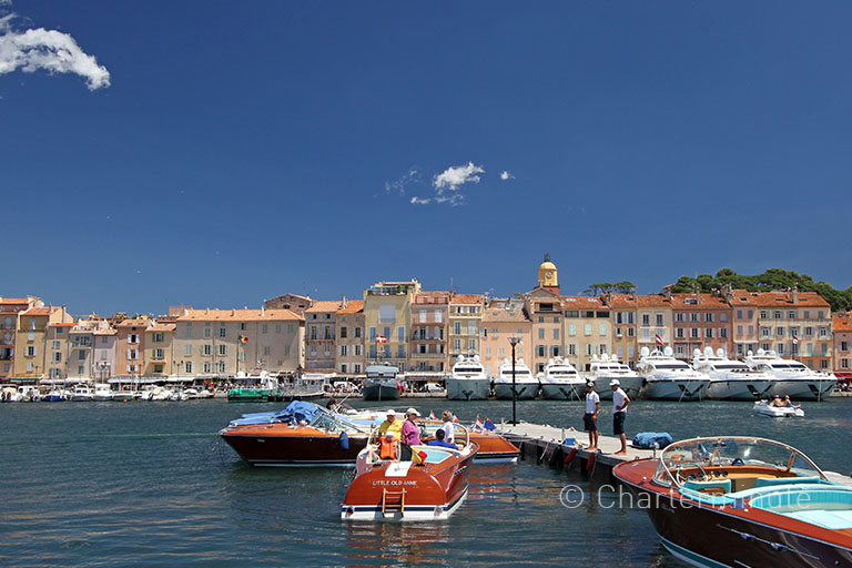
<path id="1" fill-rule="evenodd" d="M 410 371 L 444 373 L 448 369 L 449 298 L 449 292 L 440 291 L 420 291 L 414 295 L 408 346 Z"/>

